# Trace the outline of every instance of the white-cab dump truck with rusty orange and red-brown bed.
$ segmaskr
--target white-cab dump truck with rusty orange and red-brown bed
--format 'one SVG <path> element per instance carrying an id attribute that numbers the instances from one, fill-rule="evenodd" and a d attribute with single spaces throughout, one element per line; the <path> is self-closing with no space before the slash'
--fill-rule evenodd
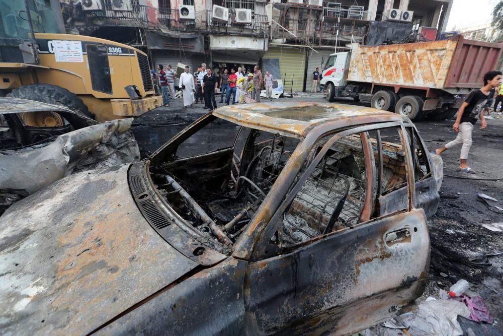
<path id="1" fill-rule="evenodd" d="M 471 90 L 483 86 L 484 73 L 497 68 L 502 48 L 462 36 L 380 46 L 353 44 L 350 52 L 328 57 L 320 87 L 328 101 L 352 97 L 411 120 L 448 119 Z"/>

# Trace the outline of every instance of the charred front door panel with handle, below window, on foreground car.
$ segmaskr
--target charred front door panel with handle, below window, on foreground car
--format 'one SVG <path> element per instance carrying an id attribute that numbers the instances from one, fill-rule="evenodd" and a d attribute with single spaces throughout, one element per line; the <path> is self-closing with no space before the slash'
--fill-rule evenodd
<path id="1" fill-rule="evenodd" d="M 406 234 L 391 239 L 402 229 Z M 245 278 L 248 328 L 255 329 L 251 334 L 320 334 L 320 321 L 331 319 L 325 325 L 330 334 L 351 334 L 399 314 L 424 289 L 429 246 L 425 214 L 412 210 L 250 263 Z M 394 295 L 397 289 L 407 294 Z M 369 310 L 369 293 L 387 294 Z"/>

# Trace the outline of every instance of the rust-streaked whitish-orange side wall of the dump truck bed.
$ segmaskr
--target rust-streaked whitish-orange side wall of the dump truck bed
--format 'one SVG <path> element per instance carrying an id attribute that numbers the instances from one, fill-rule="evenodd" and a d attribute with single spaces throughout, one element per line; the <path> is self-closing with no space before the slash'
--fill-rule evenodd
<path id="1" fill-rule="evenodd" d="M 457 40 L 358 46 L 351 54 L 348 81 L 443 88 Z"/>

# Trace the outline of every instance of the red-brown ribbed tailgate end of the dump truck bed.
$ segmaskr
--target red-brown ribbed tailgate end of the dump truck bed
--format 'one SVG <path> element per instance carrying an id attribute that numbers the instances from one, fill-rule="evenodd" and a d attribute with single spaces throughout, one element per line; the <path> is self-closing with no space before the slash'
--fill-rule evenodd
<path id="1" fill-rule="evenodd" d="M 503 44 L 466 40 L 458 37 L 446 88 L 477 88 L 486 72 L 496 70 Z"/>

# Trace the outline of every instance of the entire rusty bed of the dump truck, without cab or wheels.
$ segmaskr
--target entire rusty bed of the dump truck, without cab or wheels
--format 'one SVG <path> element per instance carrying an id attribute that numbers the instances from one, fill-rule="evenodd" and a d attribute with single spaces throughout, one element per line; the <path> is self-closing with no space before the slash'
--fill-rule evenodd
<path id="1" fill-rule="evenodd" d="M 429 89 L 476 88 L 496 68 L 502 44 L 450 40 L 357 46 L 348 81 Z"/>

